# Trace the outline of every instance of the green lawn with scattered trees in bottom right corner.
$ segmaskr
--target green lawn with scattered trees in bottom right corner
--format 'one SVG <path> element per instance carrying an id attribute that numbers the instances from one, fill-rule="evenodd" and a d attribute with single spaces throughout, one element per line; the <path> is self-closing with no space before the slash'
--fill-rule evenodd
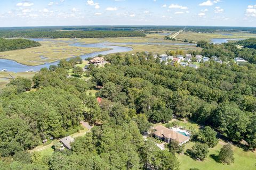
<path id="1" fill-rule="evenodd" d="M 253 170 L 256 169 L 256 153 L 251 151 L 245 152 L 243 149 L 233 146 L 235 162 L 231 165 L 223 165 L 215 162 L 210 155 L 218 155 L 220 149 L 226 143 L 220 141 L 214 148 L 209 149 L 209 154 L 204 162 L 196 161 L 186 155 L 178 155 L 178 161 L 180 162 L 180 170 L 189 170 L 189 168 L 198 168 L 200 170 L 211 169 L 211 170 Z M 193 142 L 189 142 L 185 146 L 185 151 L 191 149 L 194 145 Z"/>

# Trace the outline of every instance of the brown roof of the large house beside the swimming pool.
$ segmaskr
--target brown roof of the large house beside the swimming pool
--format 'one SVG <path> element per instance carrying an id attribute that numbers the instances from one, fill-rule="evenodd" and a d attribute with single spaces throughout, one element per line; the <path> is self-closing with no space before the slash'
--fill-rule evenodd
<path id="1" fill-rule="evenodd" d="M 189 139 L 189 137 L 186 137 L 185 135 L 182 135 L 178 132 L 175 132 L 171 129 L 165 128 L 162 125 L 158 125 L 154 128 L 156 131 L 153 132 L 155 135 L 157 135 L 158 137 L 166 137 L 166 138 L 170 138 L 172 140 L 176 140 L 179 143 L 185 142 L 186 140 Z"/>

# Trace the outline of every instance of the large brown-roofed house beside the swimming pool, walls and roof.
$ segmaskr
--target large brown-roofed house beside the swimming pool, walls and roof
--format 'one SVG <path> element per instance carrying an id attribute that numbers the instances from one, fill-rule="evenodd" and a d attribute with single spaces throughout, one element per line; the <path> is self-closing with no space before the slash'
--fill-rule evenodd
<path id="1" fill-rule="evenodd" d="M 157 125 L 154 128 L 153 135 L 154 137 L 158 138 L 159 140 L 163 140 L 166 143 L 169 143 L 171 140 L 175 140 L 179 142 L 179 145 L 183 145 L 189 140 L 189 137 L 187 137 L 186 135 L 183 135 L 179 132 L 175 132 L 174 130 L 165 128 L 162 125 Z"/>

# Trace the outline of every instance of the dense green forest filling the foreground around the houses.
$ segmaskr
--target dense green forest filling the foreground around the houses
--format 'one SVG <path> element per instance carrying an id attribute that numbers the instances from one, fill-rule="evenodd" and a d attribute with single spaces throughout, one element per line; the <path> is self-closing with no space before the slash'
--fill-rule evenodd
<path id="1" fill-rule="evenodd" d="M 212 45 L 203 48 L 227 50 L 225 45 L 207 46 Z M 194 155 L 201 149 L 207 155 L 207 148 L 216 145 L 212 129 L 229 141 L 243 140 L 248 149 L 256 148 L 255 64 L 211 61 L 196 70 L 161 64 L 146 53 L 106 58 L 110 64 L 105 67 L 90 66 L 88 81 L 67 77 L 79 60 L 61 60 L 33 81 L 18 78 L 1 91 L 3 169 L 179 169 L 175 152 L 160 150 L 141 135 L 150 123 L 167 123 L 173 115 L 211 127 L 197 134 L 201 143 L 192 148 Z M 95 87 L 102 87 L 96 94 L 101 103 L 87 94 Z M 43 157 L 26 151 L 45 138 L 64 137 L 81 120 L 95 127 L 76 138 L 71 150 Z M 200 138 L 208 133 L 214 137 L 210 143 Z"/>

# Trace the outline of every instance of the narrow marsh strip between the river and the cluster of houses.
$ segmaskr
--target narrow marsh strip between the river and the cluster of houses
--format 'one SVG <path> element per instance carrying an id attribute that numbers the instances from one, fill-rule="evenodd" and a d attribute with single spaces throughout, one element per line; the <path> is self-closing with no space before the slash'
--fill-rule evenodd
<path id="1" fill-rule="evenodd" d="M 125 53 L 136 53 L 136 52 L 149 52 L 156 54 L 165 54 L 167 50 L 202 50 L 202 48 L 198 48 L 196 46 L 189 45 L 150 45 L 150 44 L 136 44 L 136 45 L 120 45 L 124 47 L 132 47 L 133 50 L 131 52 Z"/>

